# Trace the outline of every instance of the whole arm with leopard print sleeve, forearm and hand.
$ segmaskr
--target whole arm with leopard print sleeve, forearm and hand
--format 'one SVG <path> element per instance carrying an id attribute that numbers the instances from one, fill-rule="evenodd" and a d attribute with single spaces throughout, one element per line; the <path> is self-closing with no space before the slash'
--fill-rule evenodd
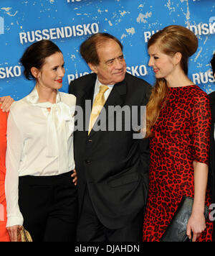
<path id="1" fill-rule="evenodd" d="M 187 234 L 193 241 L 206 229 L 204 206 L 209 174 L 209 145 L 211 132 L 211 107 L 209 97 L 203 91 L 194 95 L 191 109 L 191 136 L 194 159 L 194 206 L 187 225 Z"/>

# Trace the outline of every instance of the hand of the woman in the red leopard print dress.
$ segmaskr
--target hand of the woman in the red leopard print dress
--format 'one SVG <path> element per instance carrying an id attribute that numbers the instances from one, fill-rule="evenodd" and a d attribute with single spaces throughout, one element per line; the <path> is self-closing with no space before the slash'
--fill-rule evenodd
<path id="1" fill-rule="evenodd" d="M 192 238 L 191 232 L 193 232 L 192 242 L 196 242 L 202 232 L 206 229 L 206 220 L 204 214 L 192 213 L 190 219 L 188 220 L 186 234 L 189 239 Z"/>

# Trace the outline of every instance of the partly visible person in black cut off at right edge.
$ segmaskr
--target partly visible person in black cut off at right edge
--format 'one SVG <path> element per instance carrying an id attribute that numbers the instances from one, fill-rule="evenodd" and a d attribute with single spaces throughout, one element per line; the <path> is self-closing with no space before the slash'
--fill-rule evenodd
<path id="1" fill-rule="evenodd" d="M 211 67 L 215 78 L 215 53 L 211 60 Z M 215 91 L 209 94 L 211 101 L 212 127 L 211 127 L 211 147 L 210 147 L 210 165 L 209 165 L 209 184 L 211 186 L 212 201 L 215 204 Z M 215 221 L 214 221 L 214 235 L 215 241 Z"/>

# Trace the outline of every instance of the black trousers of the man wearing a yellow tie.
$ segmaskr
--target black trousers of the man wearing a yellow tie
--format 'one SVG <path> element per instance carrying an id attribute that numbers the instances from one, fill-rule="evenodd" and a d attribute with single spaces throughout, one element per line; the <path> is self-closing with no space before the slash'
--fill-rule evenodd
<path id="1" fill-rule="evenodd" d="M 77 242 L 142 242 L 144 209 L 123 229 L 108 229 L 97 218 L 89 192 L 85 192 L 77 225 Z"/>

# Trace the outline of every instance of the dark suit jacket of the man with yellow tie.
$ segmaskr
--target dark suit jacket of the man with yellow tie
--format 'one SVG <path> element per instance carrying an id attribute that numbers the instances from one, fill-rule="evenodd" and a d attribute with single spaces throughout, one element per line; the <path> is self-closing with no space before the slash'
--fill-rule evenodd
<path id="1" fill-rule="evenodd" d="M 93 99 L 97 76 L 92 73 L 70 83 L 69 92 L 77 97 L 77 106 L 87 113 L 88 128 L 91 109 L 85 101 Z M 125 80 L 115 84 L 105 102 L 108 106 L 145 106 L 151 86 L 142 79 L 126 73 Z M 139 121 L 140 121 L 140 116 Z M 108 116 L 107 121 L 116 119 Z M 116 121 L 116 120 L 115 120 Z M 123 119 L 124 121 L 124 119 Z M 149 144 L 147 139 L 134 140 L 134 131 L 74 134 L 75 165 L 78 175 L 80 209 L 86 186 L 97 217 L 108 229 L 121 229 L 133 221 L 143 209 L 148 193 Z"/>

